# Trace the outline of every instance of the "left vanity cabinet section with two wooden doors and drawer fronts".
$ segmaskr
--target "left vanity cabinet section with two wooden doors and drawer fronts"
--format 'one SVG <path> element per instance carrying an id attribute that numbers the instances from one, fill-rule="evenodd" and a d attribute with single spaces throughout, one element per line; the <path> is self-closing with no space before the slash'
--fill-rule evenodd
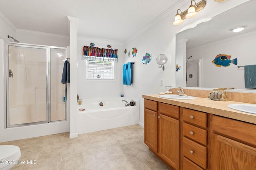
<path id="1" fill-rule="evenodd" d="M 146 99 L 144 107 L 144 143 L 173 170 L 179 170 L 180 107 Z"/>

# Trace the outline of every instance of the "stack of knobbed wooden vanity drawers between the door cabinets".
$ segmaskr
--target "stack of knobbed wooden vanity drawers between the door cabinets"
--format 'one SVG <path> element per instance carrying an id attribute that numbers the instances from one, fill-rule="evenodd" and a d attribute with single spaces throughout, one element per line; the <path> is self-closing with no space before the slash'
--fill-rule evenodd
<path id="1" fill-rule="evenodd" d="M 182 108 L 182 169 L 208 169 L 208 114 Z"/>

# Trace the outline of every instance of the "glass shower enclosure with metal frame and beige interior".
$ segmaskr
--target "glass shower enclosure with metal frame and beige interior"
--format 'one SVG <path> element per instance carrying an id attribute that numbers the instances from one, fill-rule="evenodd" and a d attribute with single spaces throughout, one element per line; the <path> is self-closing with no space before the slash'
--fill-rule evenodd
<path id="1" fill-rule="evenodd" d="M 66 121 L 66 48 L 6 43 L 6 126 Z"/>

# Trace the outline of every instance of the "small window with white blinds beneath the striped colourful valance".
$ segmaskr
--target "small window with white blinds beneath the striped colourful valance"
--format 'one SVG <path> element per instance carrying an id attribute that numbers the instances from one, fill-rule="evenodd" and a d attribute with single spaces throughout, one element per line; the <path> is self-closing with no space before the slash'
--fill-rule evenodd
<path id="1" fill-rule="evenodd" d="M 85 60 L 86 80 L 114 80 L 114 61 Z"/>

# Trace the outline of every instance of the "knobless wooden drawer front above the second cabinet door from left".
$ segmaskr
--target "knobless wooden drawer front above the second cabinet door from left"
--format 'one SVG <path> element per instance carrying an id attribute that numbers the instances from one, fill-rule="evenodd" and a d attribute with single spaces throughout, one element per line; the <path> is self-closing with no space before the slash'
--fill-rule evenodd
<path id="1" fill-rule="evenodd" d="M 180 118 L 180 107 L 174 106 L 171 104 L 165 104 L 165 103 L 158 103 L 159 105 L 159 112 L 163 115 L 174 117 L 179 119 Z"/>

